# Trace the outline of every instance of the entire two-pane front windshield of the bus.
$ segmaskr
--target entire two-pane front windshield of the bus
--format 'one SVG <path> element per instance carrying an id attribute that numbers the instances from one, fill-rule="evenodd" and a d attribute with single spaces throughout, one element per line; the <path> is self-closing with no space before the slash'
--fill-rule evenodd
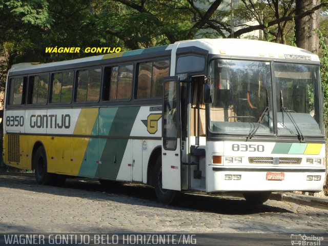
<path id="1" fill-rule="evenodd" d="M 269 61 L 215 59 L 210 65 L 214 100 L 210 130 L 252 135 L 322 135 L 319 117 L 319 67 Z M 272 81 L 273 80 L 273 81 Z M 275 83 L 275 109 L 272 83 Z M 283 110 L 284 109 L 284 110 Z M 292 121 L 295 121 L 293 124 Z"/>

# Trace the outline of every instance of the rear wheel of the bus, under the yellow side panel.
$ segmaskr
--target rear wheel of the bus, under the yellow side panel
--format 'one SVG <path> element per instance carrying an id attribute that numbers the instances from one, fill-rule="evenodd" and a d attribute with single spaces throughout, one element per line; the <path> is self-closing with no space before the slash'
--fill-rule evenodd
<path id="1" fill-rule="evenodd" d="M 47 156 L 43 147 L 39 147 L 36 150 L 33 158 L 33 167 L 37 183 L 40 185 L 51 185 L 53 183 L 54 176 L 47 172 Z"/>

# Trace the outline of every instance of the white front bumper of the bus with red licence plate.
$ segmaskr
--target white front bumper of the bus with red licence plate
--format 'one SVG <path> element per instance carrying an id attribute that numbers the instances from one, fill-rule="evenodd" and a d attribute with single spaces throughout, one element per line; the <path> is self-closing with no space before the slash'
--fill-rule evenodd
<path id="1" fill-rule="evenodd" d="M 207 192 L 322 191 L 326 170 L 319 168 L 234 168 L 208 166 Z"/>

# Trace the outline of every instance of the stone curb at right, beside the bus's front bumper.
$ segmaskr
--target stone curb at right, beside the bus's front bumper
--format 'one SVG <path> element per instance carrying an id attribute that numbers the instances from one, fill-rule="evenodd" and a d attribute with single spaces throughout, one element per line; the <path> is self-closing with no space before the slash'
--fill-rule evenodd
<path id="1" fill-rule="evenodd" d="M 319 209 L 328 209 L 328 198 L 321 198 L 315 196 L 273 192 L 269 198 L 276 201 L 289 201 L 300 205 L 311 206 Z"/>

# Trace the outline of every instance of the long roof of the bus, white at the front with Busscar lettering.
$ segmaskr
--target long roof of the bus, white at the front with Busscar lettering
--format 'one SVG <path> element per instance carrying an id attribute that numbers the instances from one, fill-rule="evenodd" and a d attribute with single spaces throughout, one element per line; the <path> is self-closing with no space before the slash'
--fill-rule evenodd
<path id="1" fill-rule="evenodd" d="M 209 54 L 216 54 L 222 57 L 257 57 L 257 58 L 282 58 L 282 59 L 297 59 L 297 60 L 312 60 L 319 61 L 319 57 L 310 51 L 303 50 L 297 47 L 281 45 L 277 43 L 264 42 L 252 39 L 239 38 L 201 38 L 195 40 L 184 40 L 176 42 L 179 48 L 197 47 L 207 50 Z M 85 58 L 78 58 L 65 61 L 56 61 L 54 63 L 38 64 L 38 63 L 20 63 L 15 64 L 8 71 L 18 72 L 26 70 L 34 70 L 39 68 L 57 67 L 73 64 L 84 64 L 90 61 L 97 61 L 103 59 L 111 59 L 117 57 L 126 57 L 133 55 L 146 55 L 151 53 L 158 53 L 172 50 L 173 45 L 159 46 L 147 49 L 131 50 L 120 53 L 112 53 L 105 55 L 90 56 Z"/>

